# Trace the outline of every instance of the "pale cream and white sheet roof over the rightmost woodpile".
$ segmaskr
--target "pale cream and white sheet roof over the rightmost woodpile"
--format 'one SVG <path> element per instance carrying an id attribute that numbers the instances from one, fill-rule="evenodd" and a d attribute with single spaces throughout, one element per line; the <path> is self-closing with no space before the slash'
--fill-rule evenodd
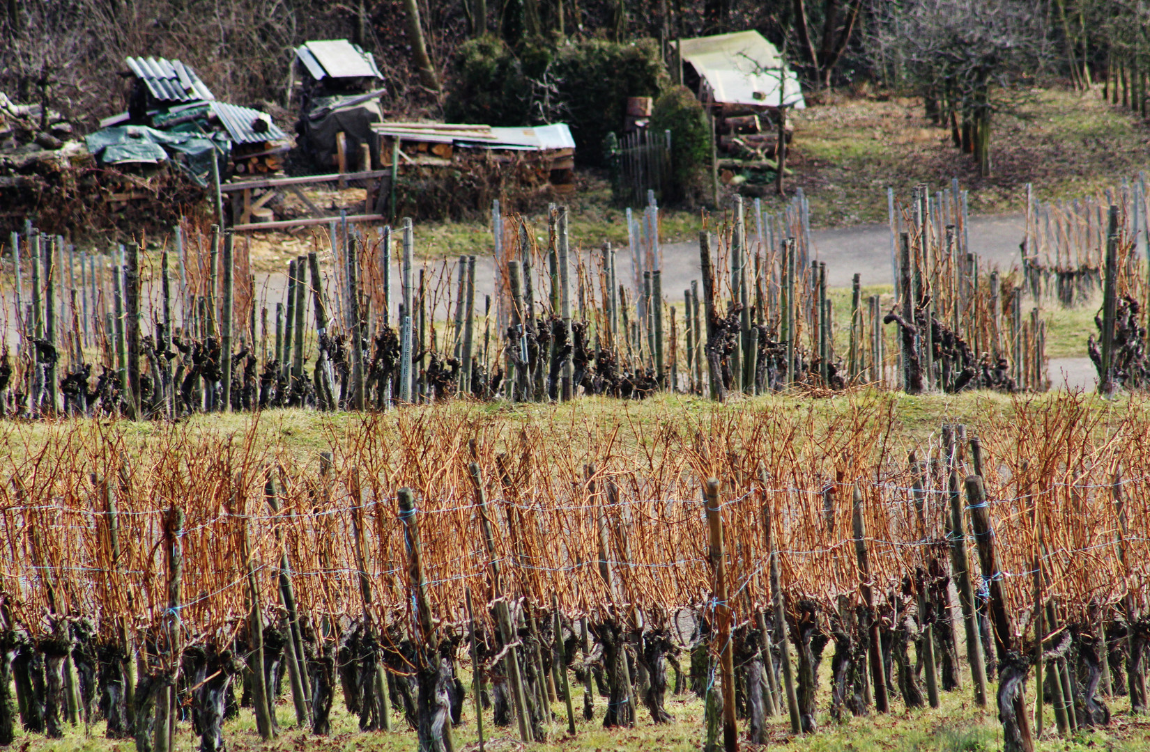
<path id="1" fill-rule="evenodd" d="M 678 51 L 716 102 L 806 107 L 798 77 L 758 31 L 680 39 Z"/>

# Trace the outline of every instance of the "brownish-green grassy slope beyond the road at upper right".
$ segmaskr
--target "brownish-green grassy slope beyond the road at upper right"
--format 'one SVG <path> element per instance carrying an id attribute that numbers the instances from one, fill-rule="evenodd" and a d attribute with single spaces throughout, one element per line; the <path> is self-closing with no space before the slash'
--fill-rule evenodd
<path id="1" fill-rule="evenodd" d="M 1019 211 L 1027 183 L 1040 200 L 1073 199 L 1144 169 L 1150 131 L 1103 102 L 1101 88 L 1044 88 L 997 114 L 991 139 L 992 173 L 982 178 L 949 129 L 923 117 L 920 99 L 838 95 L 795 114 L 790 187 L 806 193 L 812 225 L 820 227 L 885 223 L 887 186 L 903 195 L 918 183 L 941 187 L 952 177 L 969 191 L 972 214 Z"/>

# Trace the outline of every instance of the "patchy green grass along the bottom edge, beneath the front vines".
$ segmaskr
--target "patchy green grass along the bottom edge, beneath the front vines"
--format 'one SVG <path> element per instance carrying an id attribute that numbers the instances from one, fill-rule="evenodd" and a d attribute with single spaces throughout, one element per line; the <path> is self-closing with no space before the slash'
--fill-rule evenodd
<path id="1" fill-rule="evenodd" d="M 991 752 L 1002 749 L 1002 727 L 991 708 L 979 708 L 969 697 L 969 689 L 954 692 L 943 692 L 942 704 L 937 710 L 925 708 L 906 711 L 897 699 L 891 700 L 892 712 L 889 715 L 872 713 L 868 716 L 848 719 L 837 723 L 829 714 L 829 664 L 830 650 L 823 656 L 820 667 L 820 683 L 816 701 L 819 730 L 815 734 L 796 737 L 790 732 L 785 714 L 768 718 L 768 744 L 766 747 L 753 747 L 746 741 L 746 721 L 739 720 L 744 750 L 770 749 L 785 752 Z M 478 737 L 475 727 L 475 706 L 470 693 L 470 672 L 466 662 L 460 664 L 460 679 L 468 688 L 463 706 L 463 722 L 453 731 L 455 749 L 473 752 L 478 749 Z M 968 680 L 968 677 L 967 677 Z M 969 688 L 969 681 L 964 687 Z M 994 697 L 994 687 L 990 695 Z M 1027 687 L 1028 699 L 1034 699 L 1033 679 Z M 255 723 L 248 710 L 244 710 L 236 720 L 224 723 L 224 739 L 232 750 L 283 750 L 291 752 L 411 752 L 417 749 L 415 732 L 396 713 L 392 718 L 391 732 L 359 731 L 356 719 L 348 714 L 343 705 L 343 697 L 337 690 L 332 704 L 332 734 L 328 737 L 316 737 L 294 727 L 296 716 L 291 705 L 290 690 L 284 682 L 283 696 L 277 705 L 279 736 L 261 744 L 255 732 Z M 576 735 L 567 735 L 566 706 L 564 703 L 552 705 L 554 722 L 547 727 L 546 742 L 521 746 L 513 729 L 496 728 L 491 711 L 484 711 L 484 737 L 486 749 L 492 752 L 528 749 L 538 752 L 562 752 L 586 750 L 589 752 L 695 752 L 704 742 L 705 724 L 703 703 L 693 695 L 669 696 L 667 710 L 674 721 L 664 726 L 651 723 L 651 716 L 641 705 L 637 722 L 630 729 L 604 729 L 603 708 L 606 699 L 595 697 L 595 719 L 584 721 L 582 718 L 583 688 L 573 682 L 573 704 L 576 715 Z M 1045 707 L 1048 727 L 1040 739 L 1038 752 L 1086 752 L 1087 750 L 1112 750 L 1114 752 L 1134 752 L 1144 750 L 1150 744 L 1150 721 L 1130 716 L 1126 698 L 1106 700 L 1113 713 L 1111 727 L 1083 730 L 1070 738 L 1053 735 L 1052 708 Z M 83 726 L 69 728 L 66 737 L 60 741 L 47 741 L 43 737 L 21 734 L 15 749 L 22 752 L 130 752 L 133 745 L 130 741 L 109 741 L 103 738 L 103 724 L 95 723 L 90 729 Z M 199 749 L 199 739 L 192 735 L 191 724 L 179 723 L 174 752 L 191 752 Z M 720 739 L 721 744 L 721 739 Z"/>

